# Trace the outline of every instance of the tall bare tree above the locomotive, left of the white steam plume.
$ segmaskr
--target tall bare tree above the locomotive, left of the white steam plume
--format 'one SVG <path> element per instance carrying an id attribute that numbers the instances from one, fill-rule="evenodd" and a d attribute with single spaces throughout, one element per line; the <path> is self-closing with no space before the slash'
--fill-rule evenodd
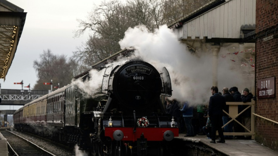
<path id="1" fill-rule="evenodd" d="M 73 59 L 84 66 L 92 65 L 108 57 L 120 49 L 119 41 L 123 38 L 128 27 L 134 27 L 133 19 L 126 14 L 125 6 L 119 1 L 102 2 L 94 8 L 87 20 L 78 20 L 80 30 L 75 32 L 79 36 L 85 30 L 93 31 L 83 48 L 73 53 Z"/>

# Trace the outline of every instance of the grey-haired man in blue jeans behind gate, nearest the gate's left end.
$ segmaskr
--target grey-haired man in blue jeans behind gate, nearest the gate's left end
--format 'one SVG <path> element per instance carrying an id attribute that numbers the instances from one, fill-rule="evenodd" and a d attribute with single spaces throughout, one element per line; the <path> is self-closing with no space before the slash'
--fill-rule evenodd
<path id="1" fill-rule="evenodd" d="M 222 96 L 225 98 L 226 102 L 234 102 L 234 96 L 229 93 L 229 89 L 227 87 L 224 87 L 222 91 L 223 91 Z M 226 105 L 224 107 L 224 111 L 229 114 L 229 105 Z M 222 120 L 223 120 L 223 125 L 225 125 L 227 122 L 231 120 L 231 118 L 229 117 L 229 115 L 223 112 Z M 228 125 L 224 127 L 224 132 L 232 133 L 233 126 L 234 126 L 234 122 L 231 121 Z M 233 139 L 233 136 L 225 136 L 225 139 Z"/>

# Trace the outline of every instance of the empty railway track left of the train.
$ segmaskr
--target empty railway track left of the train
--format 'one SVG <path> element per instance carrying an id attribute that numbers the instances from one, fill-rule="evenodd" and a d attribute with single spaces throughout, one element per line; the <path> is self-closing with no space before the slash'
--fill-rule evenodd
<path id="1" fill-rule="evenodd" d="M 12 155 L 18 156 L 55 156 L 38 145 L 28 141 L 27 139 L 16 135 L 10 131 L 1 131 L 2 135 L 7 139 L 8 146 Z"/>

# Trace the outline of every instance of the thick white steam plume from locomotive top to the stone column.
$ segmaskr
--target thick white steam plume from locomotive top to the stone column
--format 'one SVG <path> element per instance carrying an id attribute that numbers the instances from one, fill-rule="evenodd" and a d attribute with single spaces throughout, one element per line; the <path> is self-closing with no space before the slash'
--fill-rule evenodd
<path id="1" fill-rule="evenodd" d="M 121 48 L 134 47 L 135 56 L 141 56 L 158 70 L 167 68 L 173 90 L 171 98 L 203 104 L 211 96 L 212 57 L 206 53 L 191 54 L 166 25 L 154 33 L 143 25 L 129 28 L 119 43 Z"/>

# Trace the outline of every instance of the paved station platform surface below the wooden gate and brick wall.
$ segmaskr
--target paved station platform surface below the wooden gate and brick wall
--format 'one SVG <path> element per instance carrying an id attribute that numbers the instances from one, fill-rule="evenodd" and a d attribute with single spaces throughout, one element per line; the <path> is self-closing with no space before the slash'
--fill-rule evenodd
<path id="1" fill-rule="evenodd" d="M 192 141 L 193 143 L 203 143 L 210 148 L 217 150 L 228 156 L 278 156 L 278 152 L 267 148 L 255 140 L 225 140 L 225 143 L 210 143 L 207 136 L 184 137 L 179 134 L 179 139 Z"/>

